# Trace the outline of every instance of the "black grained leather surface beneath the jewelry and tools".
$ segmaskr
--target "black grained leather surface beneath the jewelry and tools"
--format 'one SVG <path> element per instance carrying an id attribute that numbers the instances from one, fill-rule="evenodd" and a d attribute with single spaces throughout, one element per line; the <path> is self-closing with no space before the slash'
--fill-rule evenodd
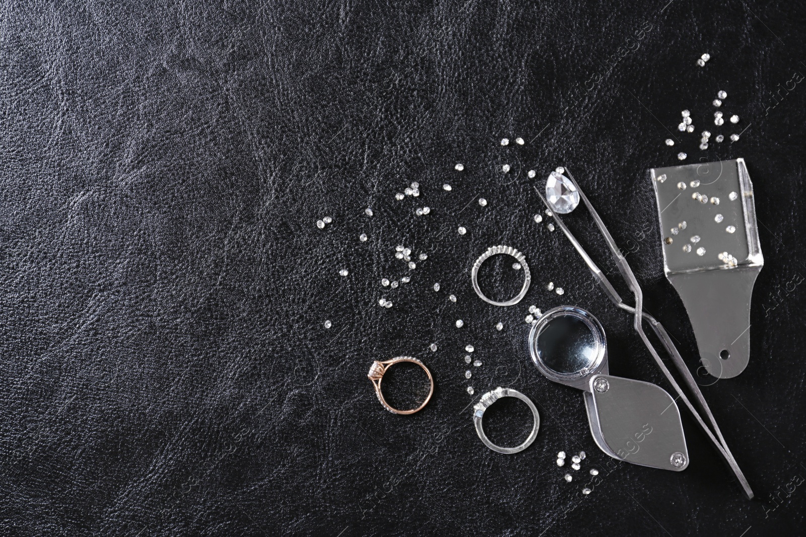
<path id="1" fill-rule="evenodd" d="M 802 534 L 804 10 L 666 2 L 5 2 L 0 534 Z M 713 125 L 720 89 L 737 126 Z M 700 151 L 682 109 L 741 140 Z M 647 177 L 678 151 L 744 157 L 754 181 L 750 366 L 698 377 L 753 502 L 686 415 L 686 471 L 612 461 L 580 392 L 526 353 L 530 304 L 579 305 L 613 374 L 671 391 L 631 318 L 532 218 L 533 184 L 564 165 L 697 370 Z M 413 181 L 420 196 L 396 200 Z M 568 221 L 606 259 L 588 217 Z M 409 271 L 399 244 L 428 258 Z M 496 244 L 533 272 L 513 308 L 470 286 Z M 503 268 L 485 285 L 517 286 Z M 468 344 L 484 362 L 470 380 Z M 401 354 L 436 379 L 417 415 L 384 411 L 366 376 Z M 480 443 L 468 408 L 499 385 L 542 416 L 513 456 Z M 490 418 L 501 441 L 529 425 L 514 403 Z M 581 449 L 567 483 L 556 453 Z"/>

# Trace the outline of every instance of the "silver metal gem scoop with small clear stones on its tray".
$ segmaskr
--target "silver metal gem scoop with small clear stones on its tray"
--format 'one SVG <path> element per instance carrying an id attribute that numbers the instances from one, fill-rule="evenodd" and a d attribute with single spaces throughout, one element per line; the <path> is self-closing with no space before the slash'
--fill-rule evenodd
<path id="1" fill-rule="evenodd" d="M 663 270 L 692 321 L 700 361 L 717 378 L 750 359 L 750 297 L 764 265 L 744 159 L 650 170 Z"/>

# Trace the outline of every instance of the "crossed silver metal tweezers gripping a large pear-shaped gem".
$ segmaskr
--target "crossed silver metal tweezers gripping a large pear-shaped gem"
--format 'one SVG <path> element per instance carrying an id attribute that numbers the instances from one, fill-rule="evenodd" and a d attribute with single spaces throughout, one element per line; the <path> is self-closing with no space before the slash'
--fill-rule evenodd
<path id="1" fill-rule="evenodd" d="M 700 391 L 700 386 L 697 386 L 694 378 L 692 377 L 691 372 L 688 370 L 688 367 L 683 362 L 683 358 L 680 357 L 680 353 L 678 352 L 675 344 L 671 341 L 671 337 L 667 333 L 666 329 L 663 328 L 663 324 L 660 324 L 658 320 L 655 320 L 653 316 L 649 313 L 643 311 L 643 292 L 641 291 L 641 287 L 638 285 L 638 279 L 635 278 L 632 269 L 629 268 L 629 264 L 627 264 L 627 260 L 625 259 L 624 255 L 621 254 L 621 250 L 619 250 L 618 246 L 616 246 L 616 242 L 613 241 L 613 237 L 610 235 L 609 231 L 605 227 L 605 222 L 599 217 L 599 213 L 596 213 L 596 209 L 593 209 L 593 205 L 590 201 L 588 201 L 588 197 L 585 196 L 584 192 L 580 188 L 579 184 L 576 184 L 574 180 L 574 176 L 571 175 L 571 172 L 568 169 L 565 169 L 565 175 L 571 180 L 571 183 L 576 188 L 577 192 L 580 193 L 580 199 L 584 202 L 585 206 L 588 207 L 588 211 L 591 213 L 593 220 L 596 221 L 596 226 L 599 228 L 600 233 L 605 238 L 607 245 L 610 249 L 610 253 L 613 255 L 613 259 L 616 263 L 618 271 L 621 272 L 621 276 L 625 279 L 629 290 L 633 292 L 635 297 L 635 307 L 630 306 L 629 304 L 625 304 L 624 301 L 621 299 L 621 296 L 618 295 L 616 290 L 613 288 L 613 285 L 609 282 L 605 274 L 600 270 L 596 263 L 593 262 L 593 259 L 588 255 L 588 253 L 584 250 L 582 245 L 579 241 L 576 240 L 574 235 L 571 231 L 568 230 L 566 225 L 563 223 L 563 220 L 559 217 L 559 214 L 556 213 L 555 209 L 549 204 L 546 198 L 540 192 L 540 189 L 535 185 L 534 189 L 538 192 L 538 196 L 544 204 L 546 204 L 546 208 L 551 211 L 551 214 L 554 215 L 555 221 L 559 228 L 563 230 L 565 236 L 571 241 L 571 244 L 574 246 L 576 251 L 582 256 L 584 259 L 585 264 L 588 265 L 588 269 L 591 271 L 593 278 L 596 279 L 596 283 L 605 291 L 605 294 L 608 295 L 608 298 L 613 301 L 613 304 L 616 304 L 619 308 L 630 312 L 634 315 L 634 324 L 633 327 L 635 331 L 638 333 L 638 336 L 641 337 L 641 340 L 644 342 L 646 349 L 650 351 L 650 354 L 654 358 L 655 363 L 658 364 L 663 375 L 667 378 L 671 386 L 675 388 L 679 399 L 683 399 L 683 403 L 686 404 L 688 410 L 692 412 L 694 418 L 696 419 L 697 423 L 700 423 L 700 427 L 703 429 L 708 438 L 711 439 L 714 446 L 717 450 L 721 453 L 721 455 L 725 458 L 730 469 L 733 470 L 733 473 L 736 475 L 739 484 L 742 485 L 742 489 L 748 499 L 753 499 L 753 490 L 750 489 L 750 484 L 747 482 L 747 479 L 742 473 L 742 469 L 739 468 L 739 465 L 736 462 L 736 459 L 733 458 L 733 454 L 730 452 L 728 448 L 728 444 L 725 442 L 725 438 L 722 437 L 722 433 L 719 430 L 719 426 L 717 425 L 717 420 L 714 419 L 711 409 L 708 407 L 708 403 L 705 402 L 705 398 L 703 397 L 702 391 Z M 658 336 L 661 343 L 663 343 L 663 347 L 666 349 L 669 356 L 671 356 L 671 360 L 674 362 L 675 367 L 679 371 L 679 374 L 683 376 L 683 379 L 688 386 L 688 389 L 692 391 L 694 394 L 694 399 L 700 407 L 700 411 L 704 413 L 706 418 L 708 418 L 708 422 L 711 423 L 713 427 L 713 432 L 708 425 L 705 424 L 702 416 L 694 406 L 692 405 L 691 401 L 689 401 L 686 394 L 680 388 L 679 384 L 675 381 L 675 378 L 671 376 L 671 372 L 667 369 L 667 366 L 663 363 L 658 352 L 654 349 L 652 344 L 650 343 L 649 339 L 646 337 L 646 333 L 644 333 L 644 329 L 642 327 L 642 320 L 646 320 L 646 322 L 650 325 L 650 328 L 654 331 L 655 335 Z M 714 436 L 716 433 L 716 436 Z M 718 437 L 718 440 L 717 440 Z"/>

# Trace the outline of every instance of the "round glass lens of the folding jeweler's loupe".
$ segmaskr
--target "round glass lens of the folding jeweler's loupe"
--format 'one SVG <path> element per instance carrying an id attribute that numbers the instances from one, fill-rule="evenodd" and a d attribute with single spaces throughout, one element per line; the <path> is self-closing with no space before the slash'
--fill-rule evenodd
<path id="1" fill-rule="evenodd" d="M 577 316 L 562 315 L 549 320 L 537 338 L 540 361 L 560 374 L 590 369 L 599 353 L 599 342 Z"/>

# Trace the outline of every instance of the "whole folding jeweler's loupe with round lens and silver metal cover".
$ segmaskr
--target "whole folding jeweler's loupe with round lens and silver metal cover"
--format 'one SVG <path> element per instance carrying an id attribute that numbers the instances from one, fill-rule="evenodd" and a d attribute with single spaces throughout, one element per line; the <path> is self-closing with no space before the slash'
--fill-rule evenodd
<path id="1" fill-rule="evenodd" d="M 596 445 L 619 461 L 680 471 L 688 466 L 675 400 L 650 382 L 609 374 L 605 330 L 582 308 L 546 312 L 529 334 L 534 365 L 551 381 L 584 391 Z"/>

